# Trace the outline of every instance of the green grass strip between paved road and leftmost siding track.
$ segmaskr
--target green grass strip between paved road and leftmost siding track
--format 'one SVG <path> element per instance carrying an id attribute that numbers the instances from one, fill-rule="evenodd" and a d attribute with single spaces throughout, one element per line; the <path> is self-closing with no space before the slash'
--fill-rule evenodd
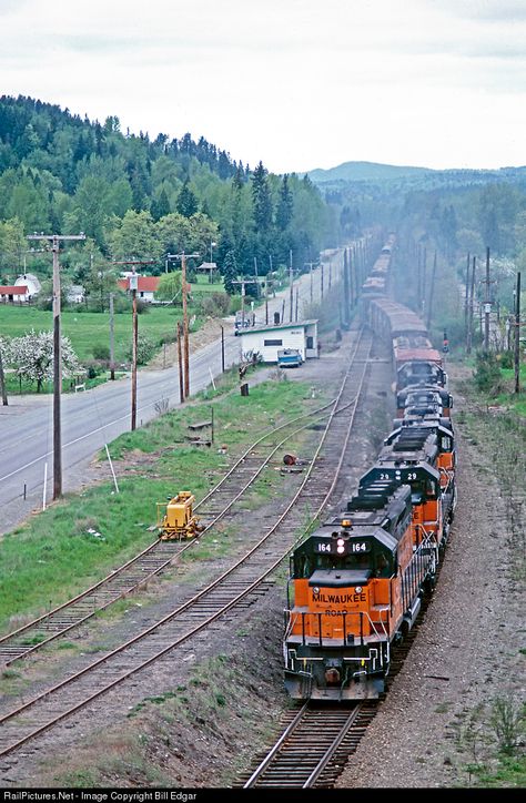
<path id="1" fill-rule="evenodd" d="M 313 404 L 320 399 L 313 403 L 303 383 L 267 382 L 247 397 L 233 392 L 216 398 L 215 440 L 226 445 L 226 456 L 218 454 L 216 444 L 196 449 L 176 443 L 189 423 L 208 417 L 210 403 L 190 404 L 118 438 L 112 458 L 128 458 L 125 465 L 115 463 L 120 494 L 103 482 L 69 495 L 0 540 L 0 632 L 64 602 L 139 552 L 155 538 L 148 527 L 155 522 L 158 501 L 186 489 L 199 500 L 233 454 Z M 135 465 L 138 454 L 150 459 Z"/>

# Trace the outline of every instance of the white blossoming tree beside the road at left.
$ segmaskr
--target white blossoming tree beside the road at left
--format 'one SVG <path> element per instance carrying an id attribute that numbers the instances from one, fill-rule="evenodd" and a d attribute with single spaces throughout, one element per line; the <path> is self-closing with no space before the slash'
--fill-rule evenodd
<path id="1" fill-rule="evenodd" d="M 37 393 L 42 384 L 53 378 L 53 333 L 31 329 L 22 337 L 13 337 L 6 349 L 7 362 L 17 368 L 17 374 L 31 384 L 37 383 Z M 68 378 L 80 370 L 79 358 L 73 352 L 69 337 L 61 338 L 62 376 Z"/>

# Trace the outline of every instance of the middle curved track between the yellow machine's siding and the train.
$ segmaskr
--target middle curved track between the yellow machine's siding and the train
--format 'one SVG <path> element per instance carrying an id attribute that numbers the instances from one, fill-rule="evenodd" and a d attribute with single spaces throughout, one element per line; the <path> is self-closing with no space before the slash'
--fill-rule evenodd
<path id="1" fill-rule="evenodd" d="M 75 674 L 42 691 L 0 716 L 0 756 L 8 756 L 67 718 L 90 705 L 118 684 L 163 658 L 257 592 L 328 501 L 353 427 L 357 402 L 368 370 L 372 337 L 363 333 L 327 424 L 302 482 L 285 510 L 257 542 L 223 575 L 190 600 L 115 650 Z M 90 705 L 91 711 L 91 705 Z M 29 750 L 34 745 L 29 745 Z M 2 762 L 3 770 L 9 761 Z M 0 765 L 0 769 L 1 765 Z"/>

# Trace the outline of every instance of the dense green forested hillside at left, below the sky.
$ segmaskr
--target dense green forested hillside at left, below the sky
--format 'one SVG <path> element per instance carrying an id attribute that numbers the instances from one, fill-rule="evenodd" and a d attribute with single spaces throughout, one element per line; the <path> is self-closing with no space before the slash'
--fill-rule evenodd
<path id="1" fill-rule="evenodd" d="M 12 279 L 26 262 L 24 235 L 77 234 L 61 264 L 85 281 L 101 261 L 153 260 L 196 252 L 234 274 L 289 264 L 302 268 L 326 244 L 331 213 L 308 177 L 254 170 L 204 138 L 123 133 L 30 98 L 0 98 L 0 270 Z M 88 247 L 87 247 L 88 246 Z"/>

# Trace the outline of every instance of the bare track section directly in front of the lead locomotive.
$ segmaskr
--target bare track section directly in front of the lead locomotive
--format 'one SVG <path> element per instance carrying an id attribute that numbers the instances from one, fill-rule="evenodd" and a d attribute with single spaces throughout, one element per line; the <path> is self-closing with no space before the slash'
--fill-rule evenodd
<path id="1" fill-rule="evenodd" d="M 306 702 L 287 712 L 284 731 L 243 789 L 331 787 L 376 713 L 377 701 L 347 705 Z"/>

